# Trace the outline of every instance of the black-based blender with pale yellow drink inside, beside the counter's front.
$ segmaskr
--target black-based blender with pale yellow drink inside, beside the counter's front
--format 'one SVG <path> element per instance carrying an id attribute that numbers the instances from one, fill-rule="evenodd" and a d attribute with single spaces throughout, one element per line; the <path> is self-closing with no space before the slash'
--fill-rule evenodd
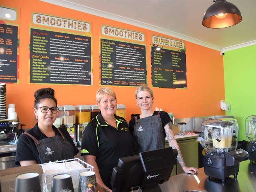
<path id="1" fill-rule="evenodd" d="M 248 152 L 236 150 L 238 124 L 233 118 L 220 118 L 202 122 L 202 147 L 204 155 L 204 173 L 207 179 L 214 177 L 225 179 L 230 175 L 237 177 L 239 162 L 248 159 Z"/>

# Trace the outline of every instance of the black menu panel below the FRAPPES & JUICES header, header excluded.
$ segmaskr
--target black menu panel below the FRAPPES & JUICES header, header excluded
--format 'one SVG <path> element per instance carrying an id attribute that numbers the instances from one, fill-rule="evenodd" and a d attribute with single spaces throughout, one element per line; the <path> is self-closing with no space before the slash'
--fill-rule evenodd
<path id="1" fill-rule="evenodd" d="M 152 47 L 151 59 L 153 87 L 187 88 L 185 52 Z"/>

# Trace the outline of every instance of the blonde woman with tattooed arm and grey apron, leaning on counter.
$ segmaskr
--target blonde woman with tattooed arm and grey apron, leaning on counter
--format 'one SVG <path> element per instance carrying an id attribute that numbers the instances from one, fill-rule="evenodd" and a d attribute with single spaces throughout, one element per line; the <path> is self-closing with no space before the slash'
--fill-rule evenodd
<path id="1" fill-rule="evenodd" d="M 141 114 L 130 120 L 129 129 L 137 141 L 137 153 L 165 148 L 166 136 L 169 146 L 177 149 L 177 161 L 180 163 L 184 172 L 196 174 L 196 168 L 186 167 L 185 165 L 178 143 L 174 138 L 171 118 L 168 113 L 153 110 L 153 91 L 149 87 L 142 85 L 136 90 L 135 98 L 137 105 L 141 108 Z"/>

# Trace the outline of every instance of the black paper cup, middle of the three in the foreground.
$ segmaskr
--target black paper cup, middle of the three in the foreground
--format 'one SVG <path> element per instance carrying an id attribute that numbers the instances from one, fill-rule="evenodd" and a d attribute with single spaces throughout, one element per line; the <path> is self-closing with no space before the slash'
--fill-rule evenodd
<path id="1" fill-rule="evenodd" d="M 52 177 L 52 192 L 74 192 L 71 175 L 54 175 Z"/>

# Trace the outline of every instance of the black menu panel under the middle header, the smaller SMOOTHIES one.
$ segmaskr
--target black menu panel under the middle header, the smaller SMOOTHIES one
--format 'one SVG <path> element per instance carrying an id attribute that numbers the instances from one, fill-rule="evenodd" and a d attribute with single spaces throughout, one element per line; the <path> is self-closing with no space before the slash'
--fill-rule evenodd
<path id="1" fill-rule="evenodd" d="M 101 85 L 146 85 L 146 47 L 144 45 L 101 39 L 100 56 Z"/>

